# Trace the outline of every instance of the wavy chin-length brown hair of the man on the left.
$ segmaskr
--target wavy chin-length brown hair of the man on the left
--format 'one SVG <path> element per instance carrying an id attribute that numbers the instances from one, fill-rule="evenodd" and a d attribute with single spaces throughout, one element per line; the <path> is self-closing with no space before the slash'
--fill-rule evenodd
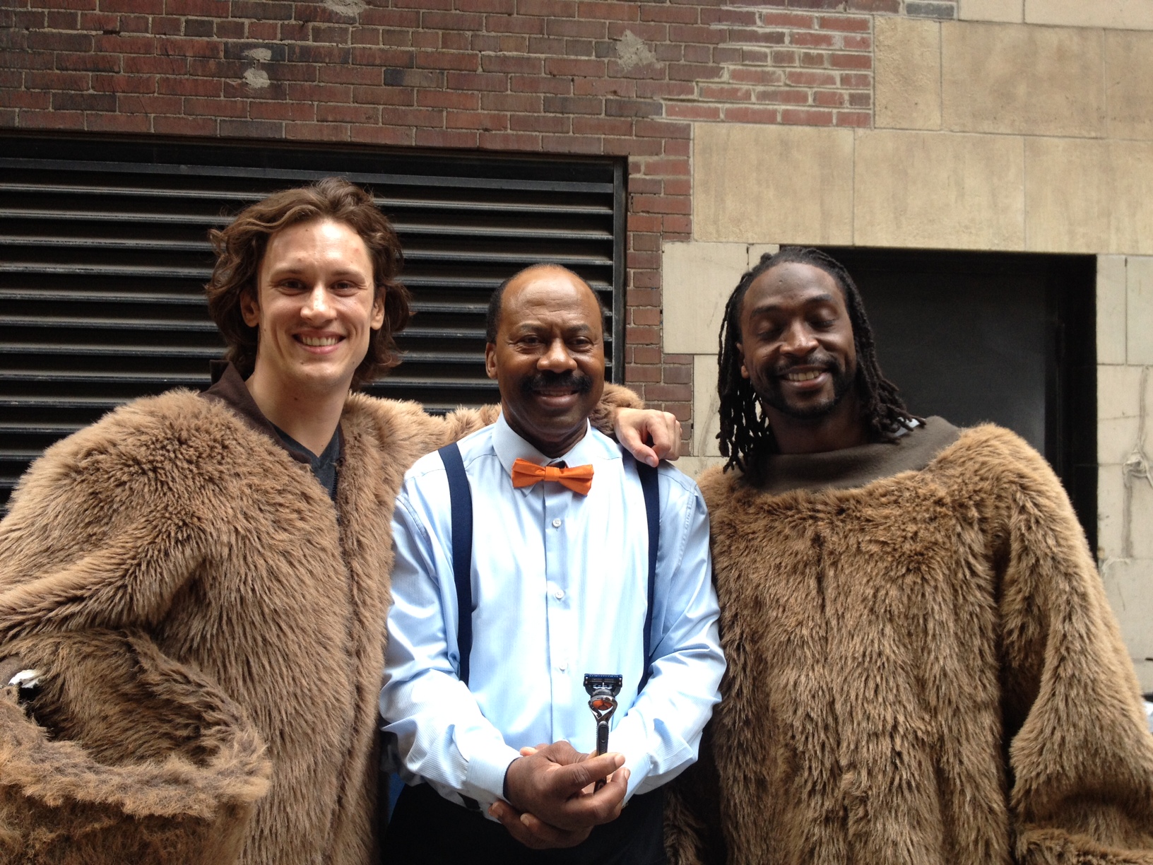
<path id="1" fill-rule="evenodd" d="M 397 279 L 404 264 L 400 241 L 372 196 L 342 178 L 324 178 L 296 189 L 273 193 L 242 210 L 232 225 L 209 232 L 216 250 L 212 278 L 204 286 L 209 314 L 228 344 L 225 358 L 247 378 L 256 366 L 256 328 L 244 323 L 241 300 L 255 296 L 256 278 L 269 238 L 289 225 L 331 219 L 355 231 L 368 247 L 376 296 L 383 295 L 384 325 L 372 331 L 368 353 L 353 374 L 352 386 L 370 382 L 400 363 L 393 339 L 408 324 L 408 289 Z"/>

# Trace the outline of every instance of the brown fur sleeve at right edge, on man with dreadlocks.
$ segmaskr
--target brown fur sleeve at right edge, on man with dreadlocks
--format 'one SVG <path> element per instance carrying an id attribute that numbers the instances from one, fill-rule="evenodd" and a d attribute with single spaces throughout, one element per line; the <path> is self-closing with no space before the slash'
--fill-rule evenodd
<path id="1" fill-rule="evenodd" d="M 990 514 L 1001 581 L 1004 738 L 1022 865 L 1153 863 L 1153 736 L 1101 578 L 1065 492 L 998 437 Z"/>

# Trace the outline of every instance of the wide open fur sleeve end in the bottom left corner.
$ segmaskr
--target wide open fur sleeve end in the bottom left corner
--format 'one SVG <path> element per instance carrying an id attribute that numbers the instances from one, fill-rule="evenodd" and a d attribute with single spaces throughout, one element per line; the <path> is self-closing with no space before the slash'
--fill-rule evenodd
<path id="1" fill-rule="evenodd" d="M 235 702 L 140 634 L 3 649 L 50 672 L 31 716 L 0 690 L 0 862 L 236 859 L 270 765 Z"/>

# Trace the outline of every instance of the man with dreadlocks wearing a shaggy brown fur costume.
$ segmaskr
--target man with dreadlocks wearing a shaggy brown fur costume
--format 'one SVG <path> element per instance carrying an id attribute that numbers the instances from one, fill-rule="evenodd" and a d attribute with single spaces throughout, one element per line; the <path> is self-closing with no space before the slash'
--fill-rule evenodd
<path id="1" fill-rule="evenodd" d="M 911 414 L 813 249 L 740 280 L 719 392 L 729 669 L 670 862 L 1153 863 L 1153 737 L 1045 460 Z"/>

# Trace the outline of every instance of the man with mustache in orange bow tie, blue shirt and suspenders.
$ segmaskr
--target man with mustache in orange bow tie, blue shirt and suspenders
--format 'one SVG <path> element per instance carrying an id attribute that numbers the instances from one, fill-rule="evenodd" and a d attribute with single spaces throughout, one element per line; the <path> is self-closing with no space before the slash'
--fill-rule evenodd
<path id="1" fill-rule="evenodd" d="M 696 759 L 724 670 L 701 495 L 589 426 L 602 311 L 576 274 L 508 280 L 485 359 L 500 419 L 397 501 L 380 708 L 413 785 L 389 862 L 663 863 L 662 785 Z M 587 674 L 618 682 L 606 753 L 588 754 Z"/>

